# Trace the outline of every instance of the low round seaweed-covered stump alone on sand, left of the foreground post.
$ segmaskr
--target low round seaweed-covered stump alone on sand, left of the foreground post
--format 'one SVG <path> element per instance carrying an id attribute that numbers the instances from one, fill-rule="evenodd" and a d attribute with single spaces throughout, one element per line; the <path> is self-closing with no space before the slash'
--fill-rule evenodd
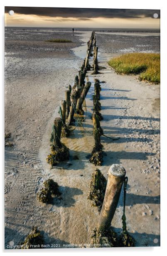
<path id="1" fill-rule="evenodd" d="M 48 179 L 43 183 L 43 187 L 37 193 L 39 202 L 52 203 L 53 198 L 61 199 L 61 192 L 59 192 L 59 185 L 52 179 Z"/>

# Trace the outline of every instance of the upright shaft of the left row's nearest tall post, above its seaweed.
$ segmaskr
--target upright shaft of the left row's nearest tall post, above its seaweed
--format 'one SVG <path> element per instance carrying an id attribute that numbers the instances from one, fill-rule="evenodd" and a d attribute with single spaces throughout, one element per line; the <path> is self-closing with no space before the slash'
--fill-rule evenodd
<path id="1" fill-rule="evenodd" d="M 55 148 L 61 148 L 61 128 L 62 128 L 62 120 L 60 117 L 56 117 L 54 120 L 54 129 L 55 133 L 53 134 L 54 137 L 54 146 Z"/>

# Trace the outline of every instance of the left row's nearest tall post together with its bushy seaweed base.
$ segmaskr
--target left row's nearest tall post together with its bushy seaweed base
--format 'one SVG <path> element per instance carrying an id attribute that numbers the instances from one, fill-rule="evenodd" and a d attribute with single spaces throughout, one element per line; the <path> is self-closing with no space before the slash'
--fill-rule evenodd
<path id="1" fill-rule="evenodd" d="M 55 118 L 52 137 L 51 137 L 51 153 L 47 156 L 47 162 L 53 167 L 57 162 L 61 162 L 69 159 L 69 148 L 61 143 L 61 128 L 62 128 L 61 118 Z"/>

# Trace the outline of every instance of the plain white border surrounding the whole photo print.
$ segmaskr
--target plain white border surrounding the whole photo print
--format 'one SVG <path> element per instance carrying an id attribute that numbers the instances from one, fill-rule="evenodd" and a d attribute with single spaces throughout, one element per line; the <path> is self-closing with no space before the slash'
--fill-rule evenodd
<path id="1" fill-rule="evenodd" d="M 103 249 L 43 249 L 43 250 L 4 250 L 4 7 L 5 6 L 33 6 L 33 7 L 89 7 L 89 8 L 120 8 L 120 9 L 160 9 L 161 10 L 161 247 L 135 247 L 135 248 L 103 248 Z M 1 163 L 1 185 L 0 191 L 2 192 L 1 196 L 1 232 L 0 232 L 0 250 L 2 253 L 6 254 L 18 254 L 18 253 L 28 253 L 31 255 L 35 254 L 48 254 L 54 253 L 56 255 L 59 254 L 87 254 L 92 255 L 96 254 L 96 256 L 101 254 L 106 255 L 149 255 L 152 256 L 157 254 L 165 254 L 165 246 L 167 239 L 167 200 L 166 200 L 166 182 L 167 182 L 167 167 L 165 164 L 165 158 L 167 158 L 167 8 L 165 1 L 163 0 L 120 0 L 120 1 L 111 1 L 111 0 L 103 0 L 98 2 L 97 0 L 63 0 L 56 2 L 55 0 L 47 0 L 45 2 L 37 1 L 37 0 L 29 0 L 27 2 L 22 0 L 2 0 L 0 3 L 0 12 L 1 12 L 1 54 L 2 62 L 1 62 L 1 86 L 0 86 L 0 117 L 1 117 L 1 136 L 0 136 L 0 144 L 1 144 L 1 154 L 0 154 L 0 163 Z M 165 83 L 166 82 L 166 83 Z M 135 221 L 135 220 L 134 220 Z"/>

